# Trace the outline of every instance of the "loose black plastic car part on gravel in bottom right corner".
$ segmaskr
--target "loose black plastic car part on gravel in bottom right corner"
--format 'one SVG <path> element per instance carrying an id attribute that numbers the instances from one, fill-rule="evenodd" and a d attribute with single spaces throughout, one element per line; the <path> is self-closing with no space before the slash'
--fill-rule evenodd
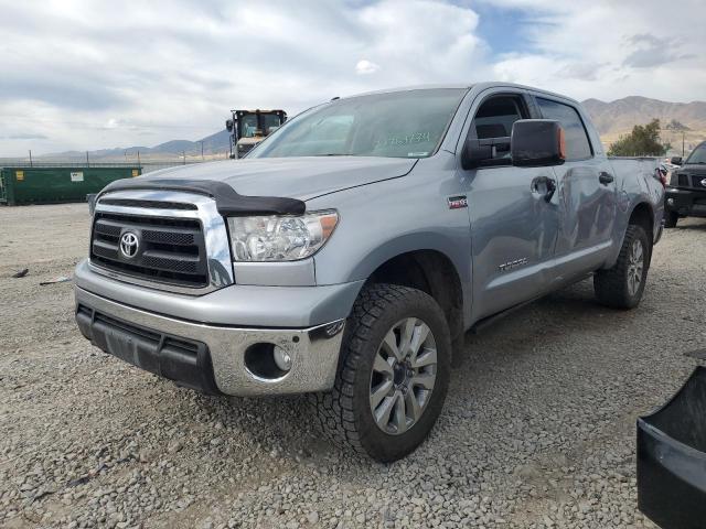
<path id="1" fill-rule="evenodd" d="M 664 529 L 706 527 L 706 368 L 638 419 L 638 507 Z"/>

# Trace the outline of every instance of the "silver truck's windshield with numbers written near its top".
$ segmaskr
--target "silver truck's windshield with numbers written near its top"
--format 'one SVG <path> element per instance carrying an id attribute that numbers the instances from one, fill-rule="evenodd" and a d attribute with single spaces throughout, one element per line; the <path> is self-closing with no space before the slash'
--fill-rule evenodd
<path id="1" fill-rule="evenodd" d="M 466 91 L 422 89 L 336 100 L 288 121 L 248 158 L 426 158 L 437 150 Z"/>

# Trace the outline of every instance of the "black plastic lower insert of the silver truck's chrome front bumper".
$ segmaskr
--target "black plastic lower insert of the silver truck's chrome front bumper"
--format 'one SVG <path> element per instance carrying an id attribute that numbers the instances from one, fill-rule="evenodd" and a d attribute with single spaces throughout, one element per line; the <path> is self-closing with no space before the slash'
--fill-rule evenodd
<path id="1" fill-rule="evenodd" d="M 221 395 L 208 347 L 116 320 L 86 305 L 76 309 L 81 333 L 104 352 L 160 377 L 208 395 Z"/>

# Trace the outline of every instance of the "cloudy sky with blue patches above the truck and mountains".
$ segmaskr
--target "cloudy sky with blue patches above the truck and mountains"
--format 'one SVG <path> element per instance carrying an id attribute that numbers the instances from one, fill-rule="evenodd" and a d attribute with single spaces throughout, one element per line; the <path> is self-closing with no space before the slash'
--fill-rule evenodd
<path id="1" fill-rule="evenodd" d="M 0 0 L 0 156 L 199 140 L 232 108 L 503 80 L 706 99 L 704 0 Z"/>

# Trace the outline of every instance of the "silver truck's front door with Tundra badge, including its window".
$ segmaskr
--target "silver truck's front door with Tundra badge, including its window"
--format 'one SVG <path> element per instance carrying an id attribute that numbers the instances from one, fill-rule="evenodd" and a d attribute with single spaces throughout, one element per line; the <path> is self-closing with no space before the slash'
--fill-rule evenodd
<path id="1" fill-rule="evenodd" d="M 558 229 L 552 168 L 516 168 L 512 125 L 537 117 L 520 89 L 494 89 L 473 105 L 468 136 L 494 145 L 484 166 L 463 171 L 473 251 L 473 317 L 492 315 L 544 293 Z M 552 181 L 552 182 L 550 182 Z"/>

